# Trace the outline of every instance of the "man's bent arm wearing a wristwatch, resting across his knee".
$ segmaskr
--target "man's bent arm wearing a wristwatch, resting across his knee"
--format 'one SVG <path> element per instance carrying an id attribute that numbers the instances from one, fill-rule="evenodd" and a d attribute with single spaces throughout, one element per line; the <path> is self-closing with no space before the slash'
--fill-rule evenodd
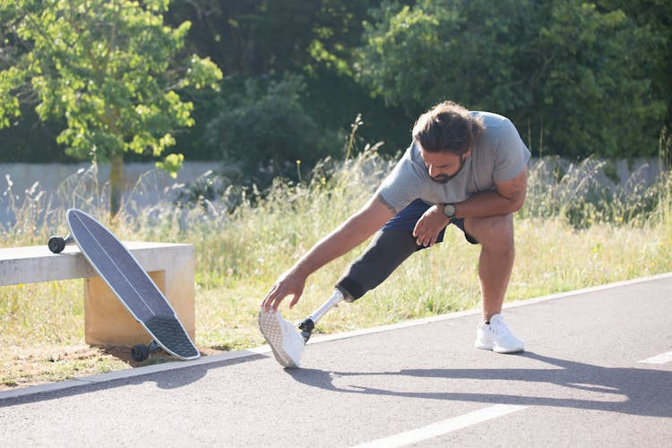
<path id="1" fill-rule="evenodd" d="M 474 194 L 455 206 L 455 218 L 478 218 L 507 215 L 521 210 L 528 189 L 528 168 L 511 180 L 495 182 L 495 190 Z M 450 220 L 444 215 L 444 204 L 434 205 L 418 220 L 413 229 L 419 246 L 433 246 L 439 232 Z"/>

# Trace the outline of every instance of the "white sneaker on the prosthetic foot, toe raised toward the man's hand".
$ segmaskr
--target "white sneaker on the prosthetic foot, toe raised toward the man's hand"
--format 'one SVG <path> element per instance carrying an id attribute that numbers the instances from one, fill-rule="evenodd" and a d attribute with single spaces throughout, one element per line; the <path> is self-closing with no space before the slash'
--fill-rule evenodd
<path id="1" fill-rule="evenodd" d="M 259 311 L 259 330 L 273 350 L 281 366 L 298 367 L 306 341 L 294 329 L 294 325 L 280 315 L 280 311 Z"/>

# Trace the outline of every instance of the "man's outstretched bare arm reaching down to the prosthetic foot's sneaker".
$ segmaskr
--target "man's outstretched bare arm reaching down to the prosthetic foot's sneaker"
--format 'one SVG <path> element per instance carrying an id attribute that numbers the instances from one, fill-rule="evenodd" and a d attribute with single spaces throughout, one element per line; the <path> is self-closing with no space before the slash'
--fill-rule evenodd
<path id="1" fill-rule="evenodd" d="M 264 297 L 262 307 L 267 311 L 271 307 L 277 310 L 282 300 L 289 295 L 293 296 L 289 307 L 295 306 L 310 274 L 365 242 L 394 213 L 380 196 L 372 197 L 362 209 L 318 241 L 289 271 L 280 275 Z"/>

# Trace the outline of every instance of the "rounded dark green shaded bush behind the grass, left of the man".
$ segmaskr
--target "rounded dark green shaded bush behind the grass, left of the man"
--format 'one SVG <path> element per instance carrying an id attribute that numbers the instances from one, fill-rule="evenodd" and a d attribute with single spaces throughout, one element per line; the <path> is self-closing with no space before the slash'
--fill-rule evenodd
<path id="1" fill-rule="evenodd" d="M 207 138 L 228 166 L 246 173 L 246 182 L 265 186 L 277 176 L 296 179 L 297 163 L 310 168 L 340 149 L 336 134 L 322 131 L 301 106 L 302 77 L 247 79 L 242 89 L 230 87 L 225 85 Z"/>

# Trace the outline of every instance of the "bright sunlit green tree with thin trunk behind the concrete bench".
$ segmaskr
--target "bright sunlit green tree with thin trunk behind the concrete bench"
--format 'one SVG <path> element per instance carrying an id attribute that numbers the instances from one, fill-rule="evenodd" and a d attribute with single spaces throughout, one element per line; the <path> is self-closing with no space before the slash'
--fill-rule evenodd
<path id="1" fill-rule="evenodd" d="M 182 55 L 190 28 L 163 22 L 168 0 L 2 0 L 0 126 L 33 101 L 42 120 L 65 119 L 57 142 L 78 159 L 110 163 L 110 212 L 119 210 L 125 152 L 164 156 L 176 129 L 193 125 L 178 91 L 216 88 L 210 59 Z"/>

